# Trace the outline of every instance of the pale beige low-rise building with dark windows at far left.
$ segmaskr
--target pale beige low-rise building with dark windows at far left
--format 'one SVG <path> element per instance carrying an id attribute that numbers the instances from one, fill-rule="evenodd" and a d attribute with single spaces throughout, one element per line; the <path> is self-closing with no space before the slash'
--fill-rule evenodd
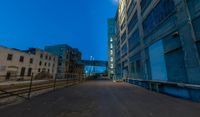
<path id="1" fill-rule="evenodd" d="M 10 49 L 0 46 L 0 81 L 55 78 L 58 58 L 40 49 Z"/>

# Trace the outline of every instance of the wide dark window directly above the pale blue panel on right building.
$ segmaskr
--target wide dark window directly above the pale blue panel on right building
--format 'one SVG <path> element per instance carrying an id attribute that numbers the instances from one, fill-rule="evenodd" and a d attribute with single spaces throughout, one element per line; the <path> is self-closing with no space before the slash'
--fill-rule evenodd
<path id="1" fill-rule="evenodd" d="M 145 35 L 147 35 L 153 29 L 155 29 L 173 11 L 175 11 L 175 5 L 173 0 L 161 0 L 156 5 L 156 7 L 149 13 L 147 18 L 143 22 L 143 29 Z"/>

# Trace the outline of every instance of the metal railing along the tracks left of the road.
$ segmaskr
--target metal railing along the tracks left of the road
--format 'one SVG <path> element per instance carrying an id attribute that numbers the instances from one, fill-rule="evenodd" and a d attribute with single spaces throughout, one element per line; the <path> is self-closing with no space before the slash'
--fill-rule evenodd
<path id="1" fill-rule="evenodd" d="M 18 76 L 15 76 L 15 78 L 12 78 L 12 80 L 7 80 L 11 83 L 1 82 L 2 84 L 0 85 L 0 99 L 14 96 L 24 99 L 30 99 L 32 94 L 34 94 L 35 92 L 44 90 L 55 91 L 57 88 L 75 85 L 86 80 L 84 74 L 65 74 L 65 76 L 66 77 L 63 79 L 58 79 L 56 77 L 55 79 L 35 80 L 32 74 L 31 76 L 29 76 L 29 80 L 24 79 L 20 81 L 16 81 L 16 79 L 18 79 Z M 5 83 L 5 85 L 3 83 Z"/>

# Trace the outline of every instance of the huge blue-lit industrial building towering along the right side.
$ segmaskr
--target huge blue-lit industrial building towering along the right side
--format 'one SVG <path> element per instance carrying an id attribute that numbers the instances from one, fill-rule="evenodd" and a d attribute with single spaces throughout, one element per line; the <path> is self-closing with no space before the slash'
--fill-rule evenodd
<path id="1" fill-rule="evenodd" d="M 200 1 L 120 0 L 115 52 L 119 78 L 200 100 Z"/>

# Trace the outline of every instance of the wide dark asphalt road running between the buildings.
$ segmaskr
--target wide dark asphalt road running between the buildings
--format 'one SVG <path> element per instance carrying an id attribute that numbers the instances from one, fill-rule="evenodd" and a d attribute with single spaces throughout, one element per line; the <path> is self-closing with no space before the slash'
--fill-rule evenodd
<path id="1" fill-rule="evenodd" d="M 200 104 L 96 80 L 0 109 L 0 117 L 200 117 Z"/>

